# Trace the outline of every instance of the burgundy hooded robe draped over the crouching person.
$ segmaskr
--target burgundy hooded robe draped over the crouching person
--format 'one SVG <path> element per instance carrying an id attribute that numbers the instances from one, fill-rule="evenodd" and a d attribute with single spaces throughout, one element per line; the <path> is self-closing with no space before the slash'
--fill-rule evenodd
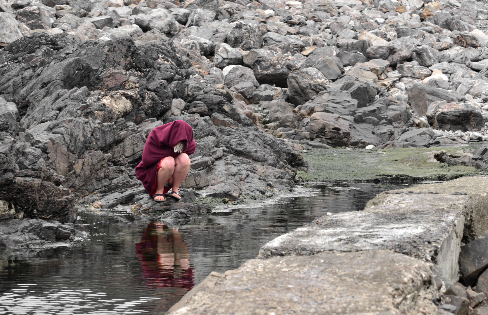
<path id="1" fill-rule="evenodd" d="M 158 186 L 157 174 L 160 168 L 160 162 L 168 156 L 177 156 L 173 147 L 180 141 L 183 141 L 183 151 L 188 155 L 195 152 L 197 144 L 193 139 L 193 129 L 183 120 L 164 124 L 154 128 L 147 136 L 144 151 L 142 152 L 142 161 L 136 167 L 136 176 L 152 197 Z M 164 189 L 166 193 L 169 189 Z"/>

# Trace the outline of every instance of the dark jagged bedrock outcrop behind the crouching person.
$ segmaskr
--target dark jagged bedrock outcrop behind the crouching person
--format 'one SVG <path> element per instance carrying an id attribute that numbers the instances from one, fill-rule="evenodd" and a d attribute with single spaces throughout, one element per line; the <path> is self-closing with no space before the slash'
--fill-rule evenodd
<path id="1" fill-rule="evenodd" d="M 191 189 L 235 201 L 293 188 L 294 168 L 306 162 L 232 103 L 221 73 L 204 76 L 166 36 L 144 41 L 33 32 L 0 50 L 0 200 L 9 218 L 74 222 L 81 197 L 153 207 L 134 167 L 150 130 L 177 119 L 198 144 L 189 190 L 182 203 L 151 210 L 208 209 L 192 203 Z"/>

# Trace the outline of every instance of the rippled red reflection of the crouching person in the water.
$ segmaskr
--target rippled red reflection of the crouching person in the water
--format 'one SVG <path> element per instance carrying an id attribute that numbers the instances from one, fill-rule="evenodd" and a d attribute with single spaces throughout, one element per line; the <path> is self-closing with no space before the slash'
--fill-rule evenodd
<path id="1" fill-rule="evenodd" d="M 136 244 L 136 255 L 142 261 L 142 277 L 150 286 L 193 288 L 188 245 L 177 228 L 150 223 Z"/>

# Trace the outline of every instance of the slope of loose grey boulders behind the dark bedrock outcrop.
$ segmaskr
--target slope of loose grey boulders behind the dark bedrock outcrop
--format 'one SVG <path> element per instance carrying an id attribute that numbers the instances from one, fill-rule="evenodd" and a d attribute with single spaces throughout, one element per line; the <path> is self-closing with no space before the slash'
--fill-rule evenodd
<path id="1" fill-rule="evenodd" d="M 221 97 L 277 138 L 354 147 L 487 140 L 488 7 L 482 1 L 2 0 L 2 7 L 3 45 L 36 32 L 71 34 L 83 43 L 131 39 L 137 47 L 163 41 L 198 80 L 226 90 Z M 51 53 L 44 50 L 30 51 L 27 63 Z M 115 76 L 105 72 L 106 80 Z M 103 88 L 139 84 L 130 77 L 137 76 L 119 73 Z M 102 87 L 100 78 L 82 80 L 90 84 L 72 85 Z M 214 115 L 216 104 L 196 96 L 201 90 L 192 91 L 193 84 L 183 92 L 186 83 L 173 74 L 158 80 L 190 103 L 185 112 Z M 151 88 L 169 106 L 169 94 Z M 109 97 L 105 103 L 118 102 Z M 124 104 L 117 115 L 129 110 Z"/>

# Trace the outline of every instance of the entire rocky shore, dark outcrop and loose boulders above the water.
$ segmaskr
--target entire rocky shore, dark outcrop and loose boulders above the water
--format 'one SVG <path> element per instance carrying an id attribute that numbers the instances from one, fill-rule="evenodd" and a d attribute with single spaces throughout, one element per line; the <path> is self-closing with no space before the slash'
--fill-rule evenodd
<path id="1" fill-rule="evenodd" d="M 486 141 L 487 12 L 474 0 L 0 0 L 1 224 L 74 223 L 82 204 L 184 221 L 210 209 L 197 197 L 291 191 L 311 171 L 306 147 Z M 156 204 L 134 167 L 150 130 L 178 119 L 197 151 L 183 201 Z M 487 169 L 474 153 L 443 162 Z"/>

